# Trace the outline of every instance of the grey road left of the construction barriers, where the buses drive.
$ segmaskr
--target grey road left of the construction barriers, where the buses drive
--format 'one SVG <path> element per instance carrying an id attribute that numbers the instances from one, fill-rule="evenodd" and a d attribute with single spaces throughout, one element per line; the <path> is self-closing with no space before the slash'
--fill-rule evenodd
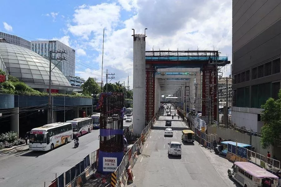
<path id="1" fill-rule="evenodd" d="M 129 126 L 132 122 L 125 122 Z M 0 154 L 0 186 L 39 187 L 65 172 L 87 154 L 99 148 L 99 129 L 79 137 L 79 147 L 74 149 L 73 141 L 53 151 L 26 151 L 23 153 Z"/>

